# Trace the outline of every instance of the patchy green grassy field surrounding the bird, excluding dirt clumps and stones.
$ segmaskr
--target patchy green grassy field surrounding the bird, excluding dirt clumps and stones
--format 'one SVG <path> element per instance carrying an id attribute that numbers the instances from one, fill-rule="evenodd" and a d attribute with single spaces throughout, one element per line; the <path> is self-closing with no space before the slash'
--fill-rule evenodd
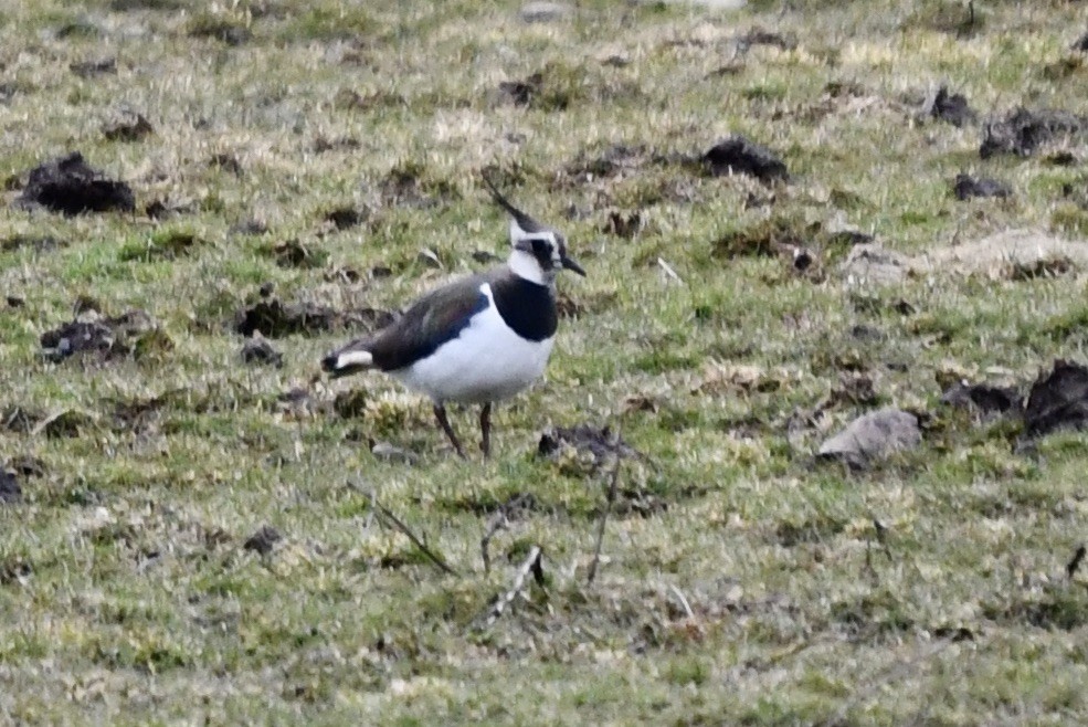
<path id="1" fill-rule="evenodd" d="M 0 6 L 3 723 L 1088 721 L 1086 435 L 1016 446 L 940 401 L 1088 358 L 1088 134 L 980 156 L 1016 107 L 1088 116 L 1080 3 L 74 4 Z M 927 113 L 941 84 L 974 119 Z M 789 181 L 707 173 L 729 134 Z M 135 212 L 15 203 L 75 150 Z M 318 361 L 505 255 L 488 169 L 589 276 L 463 462 L 426 401 Z M 960 172 L 1013 193 L 960 201 Z M 844 267 L 863 236 L 947 261 L 1012 229 L 1069 253 Z M 363 313 L 265 325 L 282 367 L 245 364 L 262 299 Z M 46 360 L 89 308 L 150 320 Z M 883 407 L 918 449 L 815 460 Z M 640 453 L 592 583 L 613 464 L 537 455 L 579 424 Z"/>

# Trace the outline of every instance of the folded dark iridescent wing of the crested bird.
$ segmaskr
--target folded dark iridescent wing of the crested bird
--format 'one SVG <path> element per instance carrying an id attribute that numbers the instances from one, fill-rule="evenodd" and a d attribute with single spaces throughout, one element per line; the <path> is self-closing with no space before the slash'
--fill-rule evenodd
<path id="1" fill-rule="evenodd" d="M 487 307 L 479 291 L 485 275 L 473 275 L 431 291 L 369 343 L 374 366 L 392 371 L 411 366 L 453 340 L 476 313 Z"/>

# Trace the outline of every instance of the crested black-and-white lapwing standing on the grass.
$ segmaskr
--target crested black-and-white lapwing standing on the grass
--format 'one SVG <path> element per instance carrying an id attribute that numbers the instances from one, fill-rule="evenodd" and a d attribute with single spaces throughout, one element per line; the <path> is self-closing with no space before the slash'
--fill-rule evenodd
<path id="1" fill-rule="evenodd" d="M 559 230 L 519 210 L 489 179 L 484 183 L 510 217 L 506 263 L 432 289 L 387 327 L 321 360 L 334 379 L 378 369 L 425 394 L 462 459 L 446 404 L 482 404 L 479 449 L 490 456 L 492 405 L 528 388 L 547 367 L 559 323 L 557 274 L 585 276 Z"/>

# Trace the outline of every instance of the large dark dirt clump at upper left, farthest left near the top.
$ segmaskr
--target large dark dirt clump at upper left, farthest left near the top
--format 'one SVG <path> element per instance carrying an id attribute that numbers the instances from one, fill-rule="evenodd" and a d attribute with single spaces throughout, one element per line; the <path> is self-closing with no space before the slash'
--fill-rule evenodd
<path id="1" fill-rule="evenodd" d="M 136 209 L 131 188 L 123 181 L 103 177 L 78 151 L 31 169 L 18 203 L 44 207 L 70 217 L 82 212 L 131 212 Z"/>

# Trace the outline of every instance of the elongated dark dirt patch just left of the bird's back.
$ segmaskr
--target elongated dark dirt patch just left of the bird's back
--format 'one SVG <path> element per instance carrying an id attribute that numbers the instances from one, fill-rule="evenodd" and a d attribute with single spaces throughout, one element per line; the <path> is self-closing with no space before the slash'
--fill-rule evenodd
<path id="1" fill-rule="evenodd" d="M 267 297 L 242 308 L 234 318 L 234 330 L 243 336 L 261 331 L 270 338 L 292 334 L 318 334 L 345 329 L 378 330 L 393 322 L 393 314 L 378 308 L 337 310 L 317 303 L 284 303 Z"/>

